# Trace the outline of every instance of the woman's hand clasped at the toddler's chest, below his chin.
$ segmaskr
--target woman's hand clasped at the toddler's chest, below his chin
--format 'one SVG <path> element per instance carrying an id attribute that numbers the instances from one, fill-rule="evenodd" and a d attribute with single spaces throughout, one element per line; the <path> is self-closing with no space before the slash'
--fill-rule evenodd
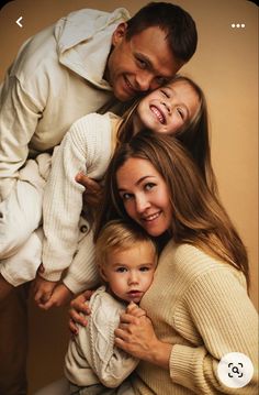
<path id="1" fill-rule="evenodd" d="M 169 370 L 172 345 L 157 339 L 150 319 L 138 306 L 128 306 L 115 330 L 115 345 L 131 355 Z"/>

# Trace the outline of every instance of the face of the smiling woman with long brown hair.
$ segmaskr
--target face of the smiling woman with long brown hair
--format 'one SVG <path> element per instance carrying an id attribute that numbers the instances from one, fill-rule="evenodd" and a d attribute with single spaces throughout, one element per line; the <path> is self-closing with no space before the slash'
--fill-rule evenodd
<path id="1" fill-rule="evenodd" d="M 116 184 L 127 215 L 153 237 L 172 221 L 169 188 L 149 161 L 128 158 L 116 173 Z"/>

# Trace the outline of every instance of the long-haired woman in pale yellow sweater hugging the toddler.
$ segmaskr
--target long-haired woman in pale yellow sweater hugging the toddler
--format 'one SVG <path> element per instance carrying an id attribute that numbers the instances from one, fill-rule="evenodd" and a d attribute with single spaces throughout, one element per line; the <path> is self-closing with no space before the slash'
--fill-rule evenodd
<path id="1" fill-rule="evenodd" d="M 115 153 L 104 196 L 97 235 L 124 218 L 166 244 L 140 304 L 148 318 L 125 314 L 115 331 L 116 345 L 142 360 L 135 393 L 257 394 L 256 373 L 238 392 L 218 376 L 233 352 L 256 371 L 257 314 L 246 249 L 187 152 L 170 136 L 137 134 Z"/>

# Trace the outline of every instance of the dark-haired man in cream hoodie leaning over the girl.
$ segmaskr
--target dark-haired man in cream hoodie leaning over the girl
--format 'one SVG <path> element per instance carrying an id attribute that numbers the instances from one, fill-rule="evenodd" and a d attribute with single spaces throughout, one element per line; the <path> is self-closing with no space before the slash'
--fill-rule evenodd
<path id="1" fill-rule="evenodd" d="M 0 221 L 13 231 L 7 237 L 0 228 L 2 260 L 16 252 L 18 238 L 22 245 L 41 218 L 38 202 L 33 204 L 41 183 L 30 184 L 31 212 L 23 201 L 29 179 L 19 179 L 18 172 L 25 161 L 52 152 L 71 123 L 87 113 L 121 113 L 125 106 L 120 102 L 127 105 L 162 85 L 194 54 L 195 23 L 181 8 L 150 3 L 128 18 L 122 8 L 112 13 L 76 11 L 30 39 L 9 69 L 0 91 Z M 26 216 L 18 223 L 23 207 Z M 2 266 L 0 262 L 3 284 L 12 276 Z M 18 287 L 0 305 L 4 395 L 26 393 L 25 294 L 24 286 Z"/>

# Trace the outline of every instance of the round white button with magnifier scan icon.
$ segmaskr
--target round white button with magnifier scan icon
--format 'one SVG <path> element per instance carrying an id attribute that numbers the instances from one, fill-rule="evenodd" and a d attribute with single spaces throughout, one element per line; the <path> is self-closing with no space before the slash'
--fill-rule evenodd
<path id="1" fill-rule="evenodd" d="M 217 374 L 223 384 L 230 388 L 241 388 L 247 385 L 254 374 L 251 360 L 241 352 L 229 352 L 223 355 Z"/>

